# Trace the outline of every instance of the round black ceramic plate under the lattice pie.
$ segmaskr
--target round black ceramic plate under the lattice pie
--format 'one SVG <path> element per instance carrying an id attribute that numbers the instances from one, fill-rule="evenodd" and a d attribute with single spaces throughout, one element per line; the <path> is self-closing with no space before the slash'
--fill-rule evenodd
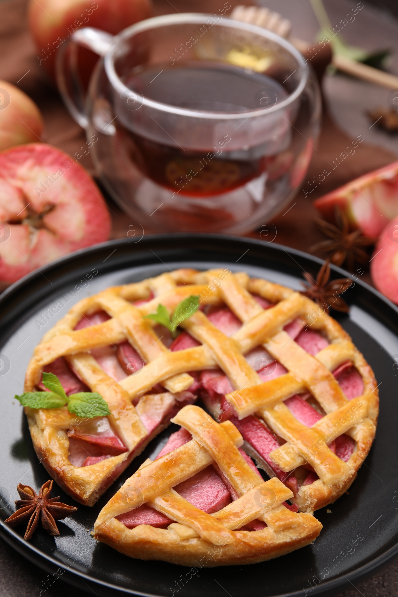
<path id="1" fill-rule="evenodd" d="M 350 488 L 329 509 L 316 512 L 323 524 L 311 546 L 250 566 L 196 569 L 127 558 L 96 543 L 92 530 L 101 507 L 140 463 L 158 451 L 169 428 L 92 507 L 79 506 L 60 522 L 60 537 L 38 530 L 29 542 L 23 530 L 3 523 L 14 511 L 19 482 L 36 489 L 48 474 L 36 457 L 26 418 L 13 396 L 20 393 L 32 351 L 55 319 L 76 301 L 114 284 L 139 281 L 177 267 L 229 267 L 245 270 L 292 288 L 301 288 L 303 270 L 315 274 L 320 260 L 307 254 L 250 239 L 206 235 L 146 236 L 139 242 L 114 241 L 79 251 L 44 267 L 0 298 L 0 534 L 53 578 L 61 577 L 97 595 L 119 591 L 178 597 L 252 597 L 317 595 L 334 592 L 371 573 L 398 553 L 398 309 L 360 281 L 345 293 L 348 315 L 333 313 L 372 365 L 380 383 L 380 419 L 371 453 Z M 95 273 L 98 272 L 98 273 Z M 341 270 L 332 276 L 340 278 Z M 359 272 L 360 273 L 360 272 Z M 73 296 L 74 294 L 74 296 Z M 57 315 L 47 310 L 58 303 Z M 47 322 L 46 322 L 47 321 Z M 73 500 L 62 491 L 61 501 Z M 330 511 L 329 511 L 330 510 Z M 45 586 L 42 587 L 45 589 Z M 120 593 L 119 593 L 120 594 Z"/>

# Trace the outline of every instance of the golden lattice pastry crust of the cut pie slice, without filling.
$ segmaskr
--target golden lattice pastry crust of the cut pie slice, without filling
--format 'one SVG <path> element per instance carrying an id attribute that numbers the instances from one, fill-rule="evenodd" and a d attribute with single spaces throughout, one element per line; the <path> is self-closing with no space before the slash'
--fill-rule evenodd
<path id="1" fill-rule="evenodd" d="M 125 482 L 98 515 L 94 525 L 97 539 L 131 556 L 187 564 L 202 555 L 203 547 L 208 549 L 206 543 L 222 546 L 220 553 L 225 550 L 229 558 L 231 551 L 239 553 L 243 547 L 249 561 L 261 561 L 268 559 L 267 552 L 276 549 L 283 539 L 291 544 L 290 549 L 285 546 L 286 552 L 317 536 L 322 528 L 319 521 L 282 505 L 292 497 L 292 492 L 279 479 L 262 481 L 246 463 L 237 450 L 243 443 L 242 436 L 230 421 L 218 424 L 201 408 L 186 406 L 173 422 L 185 427 L 192 440 L 158 460 L 146 461 Z M 172 488 L 212 463 L 217 463 L 239 498 L 209 515 Z M 176 522 L 167 530 L 149 525 L 128 529 L 115 518 L 143 503 Z M 267 528 L 238 531 L 256 518 L 266 522 Z M 181 548 L 182 557 L 179 557 L 177 552 Z M 242 555 L 240 562 L 245 563 Z"/>

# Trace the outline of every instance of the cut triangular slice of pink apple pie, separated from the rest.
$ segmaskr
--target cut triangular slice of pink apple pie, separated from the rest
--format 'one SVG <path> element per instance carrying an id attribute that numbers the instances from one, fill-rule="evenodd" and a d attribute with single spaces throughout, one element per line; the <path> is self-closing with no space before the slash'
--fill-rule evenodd
<path id="1" fill-rule="evenodd" d="M 97 540 L 132 558 L 201 568 L 255 564 L 319 535 L 313 515 L 286 503 L 292 491 L 259 475 L 230 421 L 190 405 L 173 422 L 180 431 L 101 510 Z"/>

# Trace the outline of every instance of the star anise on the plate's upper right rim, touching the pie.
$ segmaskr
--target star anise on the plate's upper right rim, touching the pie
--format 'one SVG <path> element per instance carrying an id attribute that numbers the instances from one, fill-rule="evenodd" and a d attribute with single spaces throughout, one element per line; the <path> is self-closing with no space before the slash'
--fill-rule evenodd
<path id="1" fill-rule="evenodd" d="M 311 298 L 319 306 L 323 307 L 326 312 L 329 312 L 329 307 L 336 311 L 343 311 L 348 313 L 350 307 L 345 303 L 343 298 L 338 296 L 343 294 L 347 288 L 350 288 L 353 281 L 350 278 L 339 278 L 328 282 L 329 276 L 331 275 L 330 261 L 326 259 L 322 267 L 316 276 L 316 281 L 313 279 L 310 273 L 304 272 L 304 278 L 306 278 L 308 284 L 301 282 L 306 290 L 301 291 L 301 294 Z"/>

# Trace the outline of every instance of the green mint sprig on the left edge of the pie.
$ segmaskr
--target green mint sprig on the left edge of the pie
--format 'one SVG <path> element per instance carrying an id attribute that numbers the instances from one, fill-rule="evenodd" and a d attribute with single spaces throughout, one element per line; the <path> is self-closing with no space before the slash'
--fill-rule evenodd
<path id="1" fill-rule="evenodd" d="M 67 396 L 54 373 L 43 373 L 42 383 L 50 392 L 25 392 L 15 398 L 24 407 L 61 408 L 67 404 L 70 413 L 80 418 L 106 417 L 109 407 L 97 392 L 79 392 Z"/>

